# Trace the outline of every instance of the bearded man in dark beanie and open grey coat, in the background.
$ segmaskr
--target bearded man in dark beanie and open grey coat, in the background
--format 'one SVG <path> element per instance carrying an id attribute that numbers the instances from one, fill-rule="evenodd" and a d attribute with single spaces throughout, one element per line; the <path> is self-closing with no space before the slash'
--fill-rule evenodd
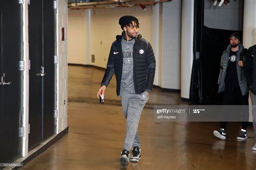
<path id="1" fill-rule="evenodd" d="M 230 36 L 230 45 L 223 52 L 220 62 L 220 74 L 218 79 L 219 93 L 224 92 L 224 105 L 248 105 L 248 86 L 245 77 L 244 47 L 240 43 L 240 35 L 234 32 Z M 242 113 L 246 121 L 242 121 L 242 129 L 238 140 L 247 139 L 248 111 Z M 213 135 L 219 139 L 226 139 L 227 122 L 220 123 L 220 130 Z"/>

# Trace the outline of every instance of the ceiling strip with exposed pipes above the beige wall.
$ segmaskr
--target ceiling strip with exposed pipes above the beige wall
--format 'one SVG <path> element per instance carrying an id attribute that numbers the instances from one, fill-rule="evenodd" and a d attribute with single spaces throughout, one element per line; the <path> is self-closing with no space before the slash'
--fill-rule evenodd
<path id="1" fill-rule="evenodd" d="M 69 9 L 96 9 L 96 8 L 116 8 L 116 7 L 132 7 L 140 6 L 142 9 L 146 8 L 146 5 L 154 5 L 160 2 L 169 2 L 172 0 L 108 0 L 108 1 L 80 1 L 80 0 L 69 0 Z"/>

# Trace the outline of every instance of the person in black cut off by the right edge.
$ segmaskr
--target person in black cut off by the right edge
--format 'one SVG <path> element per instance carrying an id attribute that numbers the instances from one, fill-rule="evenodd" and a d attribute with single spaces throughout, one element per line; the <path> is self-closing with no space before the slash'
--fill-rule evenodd
<path id="1" fill-rule="evenodd" d="M 253 128 L 256 134 L 256 45 L 251 46 L 246 53 L 245 71 L 248 86 L 250 87 L 250 96 L 252 100 L 252 118 Z M 256 151 L 256 144 L 252 147 L 252 150 Z"/>

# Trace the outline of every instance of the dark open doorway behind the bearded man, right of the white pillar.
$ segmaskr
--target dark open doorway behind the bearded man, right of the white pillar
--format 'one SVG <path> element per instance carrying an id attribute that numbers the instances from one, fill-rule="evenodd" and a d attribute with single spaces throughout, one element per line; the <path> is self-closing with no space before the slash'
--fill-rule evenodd
<path id="1" fill-rule="evenodd" d="M 244 1 L 228 1 L 220 8 L 218 5 L 214 6 L 211 0 L 194 1 L 191 103 L 206 105 L 223 103 L 223 96 L 218 93 L 220 58 L 230 44 L 230 35 L 238 31 L 242 36 L 243 5 Z M 223 12 L 224 8 L 228 9 L 226 13 L 217 15 L 221 10 Z M 235 14 L 239 14 L 237 15 L 239 17 L 234 17 Z"/>

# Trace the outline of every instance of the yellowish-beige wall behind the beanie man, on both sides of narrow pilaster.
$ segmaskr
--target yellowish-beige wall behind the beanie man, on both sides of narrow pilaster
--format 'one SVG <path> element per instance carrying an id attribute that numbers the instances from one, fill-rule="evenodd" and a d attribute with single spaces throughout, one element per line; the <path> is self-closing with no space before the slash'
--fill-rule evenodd
<path id="1" fill-rule="evenodd" d="M 90 11 L 91 15 L 90 22 L 87 21 L 88 17 L 86 17 L 88 11 Z M 142 33 L 143 38 L 150 41 L 151 27 L 148 25 L 151 25 L 151 6 L 147 6 L 146 10 L 139 6 L 132 8 L 69 10 L 68 63 L 85 64 L 85 60 L 91 61 L 91 55 L 94 55 L 95 63 L 90 62 L 90 64 L 105 68 L 110 46 L 116 39 L 116 35 L 122 33 L 118 20 L 121 16 L 131 15 L 131 13 L 139 19 L 139 31 Z M 85 30 L 88 28 L 91 30 L 91 55 L 84 51 L 88 43 L 85 40 Z"/>

